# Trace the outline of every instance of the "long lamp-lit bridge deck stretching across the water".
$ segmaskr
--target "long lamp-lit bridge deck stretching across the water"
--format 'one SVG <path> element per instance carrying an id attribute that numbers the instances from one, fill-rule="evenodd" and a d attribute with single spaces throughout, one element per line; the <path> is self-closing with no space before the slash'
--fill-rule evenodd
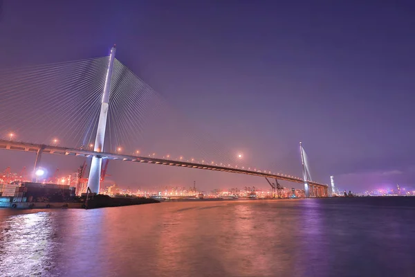
<path id="1" fill-rule="evenodd" d="M 42 150 L 43 153 L 46 154 L 60 154 L 65 156 L 75 156 L 75 157 L 102 157 L 103 159 L 111 159 L 111 160 L 120 160 L 120 161 L 133 161 L 138 163 L 154 163 L 160 164 L 164 166 L 178 166 L 182 168 L 198 168 L 202 170 L 214 170 L 214 171 L 221 171 L 221 172 L 232 172 L 237 174 L 245 174 L 245 175 L 252 175 L 257 177 L 267 177 L 272 179 L 279 179 L 282 181 L 291 181 L 298 184 L 304 184 L 304 180 L 291 177 L 287 175 L 275 175 L 266 172 L 261 172 L 259 170 L 244 170 L 240 168 L 227 168 L 223 166 L 213 166 L 208 164 L 201 164 L 201 163 L 190 163 L 185 161 L 173 161 L 168 159 L 156 159 L 151 157 L 140 157 L 140 156 L 131 156 L 131 155 L 123 155 L 123 154 L 113 154 L 113 153 L 106 153 L 106 152 L 94 152 L 89 150 L 81 150 L 75 148 L 64 148 L 59 146 L 52 146 L 52 145 L 40 145 L 40 144 L 33 144 L 33 143 L 24 143 L 24 142 L 17 142 L 17 141 L 4 141 L 0 140 L 0 149 L 5 150 L 17 150 L 17 151 L 25 151 L 25 152 L 34 152 L 37 153 L 39 150 Z M 320 184 L 314 181 L 307 181 L 306 182 L 310 188 L 310 196 L 311 197 L 326 197 L 327 196 L 327 188 L 328 185 Z"/>

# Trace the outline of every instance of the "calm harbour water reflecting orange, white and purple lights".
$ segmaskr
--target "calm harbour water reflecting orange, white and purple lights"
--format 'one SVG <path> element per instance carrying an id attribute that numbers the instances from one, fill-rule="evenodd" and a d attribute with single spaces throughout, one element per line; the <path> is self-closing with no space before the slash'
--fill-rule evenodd
<path id="1" fill-rule="evenodd" d="M 0 276 L 415 276 L 415 199 L 0 209 Z"/>

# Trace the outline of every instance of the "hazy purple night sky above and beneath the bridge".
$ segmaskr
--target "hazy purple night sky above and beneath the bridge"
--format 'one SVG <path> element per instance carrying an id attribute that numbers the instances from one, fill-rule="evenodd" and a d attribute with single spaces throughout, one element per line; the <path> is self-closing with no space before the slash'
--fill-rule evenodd
<path id="1" fill-rule="evenodd" d="M 316 181 L 415 187 L 411 1 L 0 3 L 0 70 L 102 57 L 116 43 L 118 60 L 251 165 L 300 176 L 302 141 Z M 0 170 L 35 159 L 0 155 Z M 53 171 L 82 162 L 44 156 Z M 108 173 L 133 188 L 268 187 L 258 177 L 136 163 L 110 163 Z"/>

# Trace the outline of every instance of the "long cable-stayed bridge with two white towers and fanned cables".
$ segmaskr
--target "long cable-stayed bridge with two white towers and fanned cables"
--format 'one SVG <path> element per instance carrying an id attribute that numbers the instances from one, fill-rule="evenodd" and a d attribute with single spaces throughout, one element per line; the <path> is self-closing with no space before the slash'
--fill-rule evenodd
<path id="1" fill-rule="evenodd" d="M 327 195 L 326 184 L 311 181 L 301 144 L 302 178 L 243 166 L 221 143 L 190 126 L 115 53 L 114 46 L 109 57 L 0 72 L 0 127 L 10 136 L 0 140 L 0 149 L 35 152 L 34 172 L 42 167 L 42 154 L 91 157 L 88 186 L 94 193 L 100 191 L 102 159 L 115 159 L 272 178 L 275 183 L 267 181 L 274 190 L 278 180 L 292 181 L 304 184 L 307 197 Z M 181 154 L 147 157 L 138 144 Z"/>

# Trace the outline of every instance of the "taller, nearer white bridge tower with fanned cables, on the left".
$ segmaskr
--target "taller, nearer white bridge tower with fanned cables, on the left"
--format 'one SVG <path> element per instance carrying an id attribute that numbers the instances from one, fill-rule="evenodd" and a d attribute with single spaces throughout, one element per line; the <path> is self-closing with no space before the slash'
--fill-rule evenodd
<path id="1" fill-rule="evenodd" d="M 97 134 L 95 136 L 95 145 L 93 150 L 95 152 L 104 151 L 105 129 L 107 127 L 108 108 L 109 108 L 109 93 L 111 91 L 112 71 L 114 64 L 114 57 L 116 55 L 116 46 L 111 48 L 111 55 L 109 55 L 109 65 L 107 71 L 107 78 L 105 79 L 104 94 L 102 95 L 100 119 L 98 120 Z M 91 169 L 89 170 L 88 187 L 92 193 L 100 193 L 100 179 L 101 179 L 102 157 L 92 157 Z"/>

